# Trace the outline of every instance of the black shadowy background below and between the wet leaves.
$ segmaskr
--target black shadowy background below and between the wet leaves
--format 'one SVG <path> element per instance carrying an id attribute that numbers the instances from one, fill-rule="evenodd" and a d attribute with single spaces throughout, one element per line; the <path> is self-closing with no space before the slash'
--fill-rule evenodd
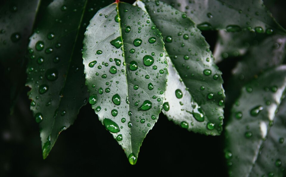
<path id="1" fill-rule="evenodd" d="M 268 0 L 265 5 L 285 28 L 284 0 Z M 217 32 L 203 35 L 213 49 Z M 235 63 L 236 60 L 228 59 L 218 65 L 224 85 Z M 20 91 L 13 115 L 5 115 L 7 110 L 0 114 L 0 176 L 227 176 L 223 134 L 205 136 L 188 132 L 163 114 L 144 139 L 137 164 L 131 166 L 89 104 L 80 110 L 74 125 L 60 134 L 48 158 L 43 160 L 38 124 L 29 109 L 28 90 L 25 87 Z M 4 99 L 1 106 L 9 108 Z M 226 122 L 229 111 L 225 111 Z"/>

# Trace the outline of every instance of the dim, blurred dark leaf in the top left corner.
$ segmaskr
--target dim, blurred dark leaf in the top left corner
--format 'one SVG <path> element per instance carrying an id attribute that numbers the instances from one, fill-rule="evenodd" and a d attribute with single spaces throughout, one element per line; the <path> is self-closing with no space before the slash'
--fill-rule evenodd
<path id="1" fill-rule="evenodd" d="M 24 85 L 25 64 L 29 35 L 38 6 L 38 0 L 9 0 L 1 2 L 0 6 L 0 65 L 4 74 L 5 84 L 1 92 L 5 95 L 5 102 L 13 105 L 21 85 Z M 24 77 L 23 77 L 24 76 Z M 2 90 L 3 89 L 3 90 Z M 9 97 L 10 96 L 10 97 Z M 4 100 L 3 97 L 3 100 Z M 5 108 L 4 108 L 5 110 Z"/>

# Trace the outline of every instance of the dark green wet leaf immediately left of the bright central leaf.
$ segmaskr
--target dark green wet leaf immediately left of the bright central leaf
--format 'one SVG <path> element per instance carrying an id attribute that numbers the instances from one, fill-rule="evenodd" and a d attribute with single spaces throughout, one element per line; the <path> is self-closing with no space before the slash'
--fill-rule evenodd
<path id="1" fill-rule="evenodd" d="M 73 124 L 87 103 L 81 59 L 88 21 L 105 1 L 55 0 L 46 8 L 29 43 L 27 86 L 31 110 L 40 126 L 45 159 L 61 131 Z"/>

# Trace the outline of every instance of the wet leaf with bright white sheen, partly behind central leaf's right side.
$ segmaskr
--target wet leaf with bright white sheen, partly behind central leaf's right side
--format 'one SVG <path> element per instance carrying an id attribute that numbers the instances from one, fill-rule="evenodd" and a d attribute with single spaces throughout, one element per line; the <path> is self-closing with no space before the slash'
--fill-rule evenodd
<path id="1" fill-rule="evenodd" d="M 219 135 L 225 96 L 222 73 L 213 62 L 209 44 L 184 13 L 160 1 L 143 2 L 162 32 L 172 66 L 163 113 L 189 131 Z"/>

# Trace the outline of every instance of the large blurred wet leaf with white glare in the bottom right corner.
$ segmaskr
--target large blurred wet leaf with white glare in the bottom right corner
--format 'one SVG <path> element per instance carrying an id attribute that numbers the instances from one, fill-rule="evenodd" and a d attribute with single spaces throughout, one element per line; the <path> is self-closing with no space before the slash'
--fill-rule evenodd
<path id="1" fill-rule="evenodd" d="M 247 87 L 252 91 L 247 91 Z M 279 144 L 279 139 L 286 136 L 285 104 L 279 106 L 285 88 L 285 65 L 268 70 L 242 88 L 226 125 L 225 152 L 230 176 L 282 173 L 274 165 L 280 158 L 285 167 L 285 147 Z M 282 112 L 276 114 L 278 107 Z"/>

